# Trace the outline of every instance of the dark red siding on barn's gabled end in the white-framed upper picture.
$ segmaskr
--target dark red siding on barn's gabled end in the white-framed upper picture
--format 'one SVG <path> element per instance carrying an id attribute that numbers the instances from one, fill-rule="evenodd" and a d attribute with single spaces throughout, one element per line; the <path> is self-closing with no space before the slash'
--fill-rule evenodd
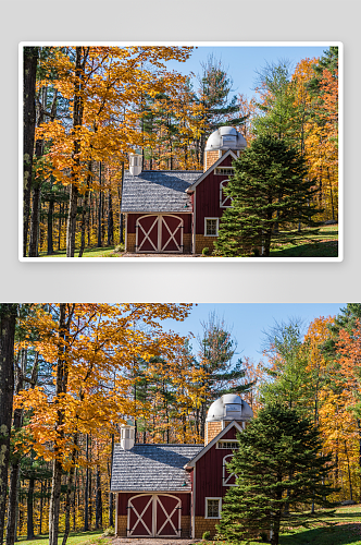
<path id="1" fill-rule="evenodd" d="M 227 156 L 219 167 L 232 167 L 234 158 Z M 220 184 L 228 180 L 226 174 L 215 174 L 214 170 L 196 189 L 196 233 L 204 234 L 204 218 L 221 218 L 225 208 L 220 207 Z"/>

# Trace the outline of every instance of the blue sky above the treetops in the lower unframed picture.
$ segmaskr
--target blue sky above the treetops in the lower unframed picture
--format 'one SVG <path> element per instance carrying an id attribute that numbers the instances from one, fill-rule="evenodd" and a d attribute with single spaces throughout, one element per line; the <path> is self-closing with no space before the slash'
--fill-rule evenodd
<path id="1" fill-rule="evenodd" d="M 164 320 L 165 328 L 180 335 L 191 331 L 196 337 L 201 335 L 201 322 L 208 322 L 209 315 L 215 313 L 223 318 L 237 341 L 239 358 L 248 356 L 256 362 L 262 359 L 263 331 L 270 330 L 275 322 L 287 323 L 289 318 L 300 318 L 306 328 L 319 316 L 334 316 L 345 308 L 347 303 L 200 303 L 194 305 L 188 318 L 184 322 Z M 197 341 L 192 341 L 194 349 Z"/>

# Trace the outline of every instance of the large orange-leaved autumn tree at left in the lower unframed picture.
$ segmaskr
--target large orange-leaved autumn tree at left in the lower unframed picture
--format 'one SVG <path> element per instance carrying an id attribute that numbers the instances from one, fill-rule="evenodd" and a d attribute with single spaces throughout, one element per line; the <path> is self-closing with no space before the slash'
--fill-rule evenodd
<path id="1" fill-rule="evenodd" d="M 79 434 L 112 432 L 120 415 L 141 414 L 132 399 L 126 371 L 139 355 L 171 358 L 180 339 L 165 334 L 160 319 L 184 319 L 189 305 L 46 305 L 28 324 L 41 330 L 35 343 L 53 365 L 53 388 L 22 390 L 16 407 L 32 409 L 29 448 L 52 461 L 49 541 L 58 543 L 62 472 L 87 461 L 78 456 Z M 134 328 L 141 323 L 146 328 Z M 111 380 L 111 377 L 112 380 Z M 72 488 L 72 477 L 69 489 Z"/>

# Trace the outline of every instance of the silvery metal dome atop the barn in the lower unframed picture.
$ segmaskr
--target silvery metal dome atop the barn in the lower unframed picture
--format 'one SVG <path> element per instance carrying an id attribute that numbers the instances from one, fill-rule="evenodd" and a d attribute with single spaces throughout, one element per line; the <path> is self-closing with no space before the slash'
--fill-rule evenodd
<path id="1" fill-rule="evenodd" d="M 236 420 L 242 422 L 251 419 L 253 411 L 237 393 L 225 393 L 213 401 L 207 413 L 207 422 Z"/>

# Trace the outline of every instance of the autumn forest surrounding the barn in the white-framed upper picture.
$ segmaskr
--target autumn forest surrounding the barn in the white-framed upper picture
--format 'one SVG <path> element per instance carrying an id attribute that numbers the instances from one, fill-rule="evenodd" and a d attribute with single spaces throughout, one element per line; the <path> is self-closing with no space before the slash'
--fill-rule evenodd
<path id="1" fill-rule="evenodd" d="M 208 136 L 227 124 L 249 143 L 266 133 L 295 146 L 316 190 L 314 219 L 337 222 L 338 48 L 296 68 L 254 66 L 251 98 L 233 94 L 214 56 L 197 83 L 167 69 L 192 49 L 23 48 L 23 256 L 122 251 L 129 153 L 141 149 L 148 170 L 202 170 Z"/>

